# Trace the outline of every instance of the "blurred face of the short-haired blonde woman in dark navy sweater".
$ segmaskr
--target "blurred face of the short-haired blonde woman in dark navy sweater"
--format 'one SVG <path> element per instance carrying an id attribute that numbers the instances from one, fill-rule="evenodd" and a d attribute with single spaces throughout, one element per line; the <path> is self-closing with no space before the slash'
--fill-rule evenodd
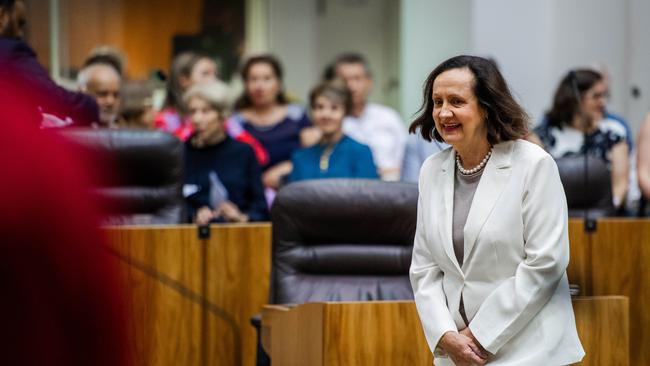
<path id="1" fill-rule="evenodd" d="M 221 140 L 225 131 L 223 119 L 210 103 L 194 97 L 187 103 L 194 127 L 194 141 L 198 146 L 211 145 Z"/>

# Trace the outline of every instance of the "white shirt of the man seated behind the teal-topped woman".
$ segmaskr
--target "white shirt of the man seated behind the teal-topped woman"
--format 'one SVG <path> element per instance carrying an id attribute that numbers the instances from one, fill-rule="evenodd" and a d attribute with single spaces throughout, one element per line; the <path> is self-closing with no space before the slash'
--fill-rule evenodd
<path id="1" fill-rule="evenodd" d="M 343 133 L 368 145 L 375 165 L 382 170 L 395 170 L 394 178 L 399 179 L 406 148 L 406 126 L 395 110 L 368 103 L 360 117 L 348 116 L 343 120 Z"/>

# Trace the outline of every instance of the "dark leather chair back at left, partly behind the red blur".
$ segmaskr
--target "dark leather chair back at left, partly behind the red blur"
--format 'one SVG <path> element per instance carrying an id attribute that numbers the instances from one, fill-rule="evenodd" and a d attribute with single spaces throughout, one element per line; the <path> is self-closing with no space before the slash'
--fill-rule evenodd
<path id="1" fill-rule="evenodd" d="M 183 143 L 161 131 L 65 129 L 60 132 L 94 168 L 104 224 L 178 224 L 183 214 Z M 96 170 L 96 169 L 95 169 Z M 97 178 L 97 177 L 95 177 Z"/>

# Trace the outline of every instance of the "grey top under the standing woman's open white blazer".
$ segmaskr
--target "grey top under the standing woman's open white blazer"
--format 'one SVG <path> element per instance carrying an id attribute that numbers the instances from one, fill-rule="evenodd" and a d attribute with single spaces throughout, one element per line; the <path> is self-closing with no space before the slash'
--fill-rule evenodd
<path id="1" fill-rule="evenodd" d="M 483 174 L 481 169 L 470 175 L 461 174 L 456 168 L 454 174 L 454 214 L 452 221 L 452 240 L 454 242 L 454 253 L 458 260 L 458 265 L 463 266 L 463 256 L 465 255 L 465 235 L 463 229 L 467 221 L 467 214 L 472 206 L 472 199 L 476 192 L 478 182 Z"/>

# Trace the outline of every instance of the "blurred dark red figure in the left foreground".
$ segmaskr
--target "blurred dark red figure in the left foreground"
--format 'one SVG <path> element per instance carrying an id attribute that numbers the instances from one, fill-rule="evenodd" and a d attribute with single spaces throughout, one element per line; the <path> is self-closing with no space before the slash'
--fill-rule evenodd
<path id="1" fill-rule="evenodd" d="M 0 364 L 130 365 L 116 260 L 78 157 L 0 90 Z"/>

